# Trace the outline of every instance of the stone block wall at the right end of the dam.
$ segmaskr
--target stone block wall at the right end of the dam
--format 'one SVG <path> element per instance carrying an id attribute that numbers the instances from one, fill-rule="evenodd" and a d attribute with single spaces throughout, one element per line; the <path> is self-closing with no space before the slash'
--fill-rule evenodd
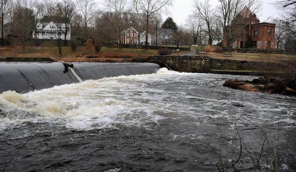
<path id="1" fill-rule="evenodd" d="M 209 57 L 193 56 L 152 56 L 147 62 L 157 63 L 161 67 L 168 65 L 172 70 L 180 72 L 208 73 L 210 72 Z"/>

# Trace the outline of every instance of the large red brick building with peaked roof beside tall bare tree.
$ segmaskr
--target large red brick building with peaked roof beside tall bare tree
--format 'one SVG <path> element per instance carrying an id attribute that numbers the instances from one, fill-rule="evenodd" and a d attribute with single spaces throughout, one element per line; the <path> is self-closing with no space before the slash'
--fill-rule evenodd
<path id="1" fill-rule="evenodd" d="M 253 39 L 253 46 L 258 49 L 274 49 L 275 24 L 260 23 L 260 20 L 247 7 L 242 9 L 235 20 L 239 24 L 235 28 L 237 38 L 232 44 L 232 48 L 246 48 L 246 41 L 250 35 Z M 236 21 L 237 22 L 237 21 Z"/>

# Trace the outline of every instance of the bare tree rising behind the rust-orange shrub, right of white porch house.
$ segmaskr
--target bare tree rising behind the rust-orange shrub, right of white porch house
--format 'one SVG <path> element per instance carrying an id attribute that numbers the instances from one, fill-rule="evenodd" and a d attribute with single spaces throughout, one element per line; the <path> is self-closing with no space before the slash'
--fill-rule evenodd
<path id="1" fill-rule="evenodd" d="M 89 32 L 94 29 L 93 24 L 96 3 L 94 0 L 76 0 L 76 5 L 82 19 L 82 26 L 84 28 L 85 35 L 88 37 Z"/>

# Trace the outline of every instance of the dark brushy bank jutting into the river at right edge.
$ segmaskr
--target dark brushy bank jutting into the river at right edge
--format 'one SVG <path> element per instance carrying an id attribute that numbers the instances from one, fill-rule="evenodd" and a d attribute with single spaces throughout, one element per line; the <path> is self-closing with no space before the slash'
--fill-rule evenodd
<path id="1" fill-rule="evenodd" d="M 223 86 L 246 91 L 267 92 L 283 95 L 296 95 L 296 80 L 283 82 L 275 78 L 261 77 L 252 81 L 229 79 Z"/>

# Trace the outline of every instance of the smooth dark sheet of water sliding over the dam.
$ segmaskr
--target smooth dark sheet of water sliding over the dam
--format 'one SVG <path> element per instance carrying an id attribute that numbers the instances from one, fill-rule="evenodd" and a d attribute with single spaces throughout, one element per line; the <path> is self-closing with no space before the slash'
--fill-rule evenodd
<path id="1" fill-rule="evenodd" d="M 78 83 L 80 79 L 97 80 L 108 77 L 156 73 L 154 63 L 75 63 L 68 70 L 63 63 L 0 63 L 0 93 L 19 93 Z"/>

